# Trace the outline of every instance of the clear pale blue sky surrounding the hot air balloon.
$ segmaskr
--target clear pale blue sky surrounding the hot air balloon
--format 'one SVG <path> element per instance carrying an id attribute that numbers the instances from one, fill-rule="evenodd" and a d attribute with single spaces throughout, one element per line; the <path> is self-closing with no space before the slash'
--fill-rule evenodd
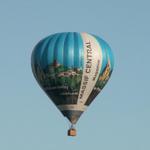
<path id="1" fill-rule="evenodd" d="M 0 0 L 0 149 L 150 149 L 149 0 Z M 78 135 L 31 71 L 33 47 L 56 32 L 89 32 L 115 65 L 81 116 Z"/>

